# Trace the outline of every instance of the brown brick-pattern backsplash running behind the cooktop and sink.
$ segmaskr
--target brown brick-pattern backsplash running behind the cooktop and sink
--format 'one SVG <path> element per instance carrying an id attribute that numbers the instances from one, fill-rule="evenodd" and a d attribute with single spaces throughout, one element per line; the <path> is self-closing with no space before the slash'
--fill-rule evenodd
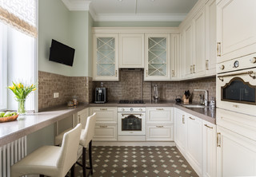
<path id="1" fill-rule="evenodd" d="M 103 81 L 103 87 L 108 88 L 108 100 L 153 100 L 154 85 L 158 85 L 160 100 L 174 100 L 176 96 L 182 96 L 185 90 L 190 90 L 193 93 L 192 101 L 199 102 L 199 95 L 204 95 L 204 92 L 194 92 L 196 88 L 208 90 L 209 99 L 216 95 L 215 77 L 190 81 L 143 81 L 142 71 L 120 70 L 119 75 L 119 81 Z M 93 81 L 93 90 L 100 85 L 100 81 Z"/>

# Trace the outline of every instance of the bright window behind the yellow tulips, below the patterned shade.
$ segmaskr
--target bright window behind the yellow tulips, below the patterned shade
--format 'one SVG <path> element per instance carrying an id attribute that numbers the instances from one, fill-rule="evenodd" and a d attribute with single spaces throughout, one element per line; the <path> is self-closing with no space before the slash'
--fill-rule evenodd
<path id="1" fill-rule="evenodd" d="M 14 93 L 7 90 L 7 85 L 14 82 L 32 84 L 37 81 L 36 38 L 0 23 L 0 109 L 18 108 Z M 36 110 L 34 92 L 26 99 L 26 109 Z"/>

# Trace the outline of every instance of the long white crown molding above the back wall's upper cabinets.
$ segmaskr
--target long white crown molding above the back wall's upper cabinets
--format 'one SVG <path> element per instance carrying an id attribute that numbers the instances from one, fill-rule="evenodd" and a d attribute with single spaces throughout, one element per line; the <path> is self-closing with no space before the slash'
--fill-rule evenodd
<path id="1" fill-rule="evenodd" d="M 90 12 L 91 13 L 91 12 Z M 95 22 L 182 22 L 186 14 L 92 14 Z"/>

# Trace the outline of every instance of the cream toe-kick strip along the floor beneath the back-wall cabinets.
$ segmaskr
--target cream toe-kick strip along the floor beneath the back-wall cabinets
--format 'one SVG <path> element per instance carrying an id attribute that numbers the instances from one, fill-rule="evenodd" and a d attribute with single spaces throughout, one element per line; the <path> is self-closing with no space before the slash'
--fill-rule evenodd
<path id="1" fill-rule="evenodd" d="M 174 143 L 174 141 L 170 141 L 170 142 L 125 142 L 125 141 L 116 141 L 116 142 L 110 142 L 110 141 L 97 141 L 94 142 L 93 141 L 93 146 L 175 146 L 176 144 Z"/>

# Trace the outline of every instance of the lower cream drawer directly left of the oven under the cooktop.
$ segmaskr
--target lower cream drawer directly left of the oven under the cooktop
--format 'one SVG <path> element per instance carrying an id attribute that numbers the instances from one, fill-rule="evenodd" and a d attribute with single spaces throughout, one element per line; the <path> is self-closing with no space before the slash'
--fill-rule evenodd
<path id="1" fill-rule="evenodd" d="M 118 140 L 116 124 L 96 124 L 94 128 L 94 141 Z"/>

